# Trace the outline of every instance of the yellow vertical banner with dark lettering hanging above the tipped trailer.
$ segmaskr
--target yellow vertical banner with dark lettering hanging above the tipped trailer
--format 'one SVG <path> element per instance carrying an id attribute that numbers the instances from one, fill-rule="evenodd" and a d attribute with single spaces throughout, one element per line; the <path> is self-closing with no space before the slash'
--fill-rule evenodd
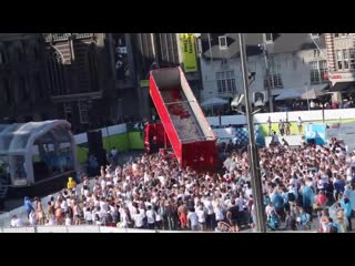
<path id="1" fill-rule="evenodd" d="M 192 33 L 180 33 L 182 61 L 185 72 L 197 71 L 195 37 Z"/>

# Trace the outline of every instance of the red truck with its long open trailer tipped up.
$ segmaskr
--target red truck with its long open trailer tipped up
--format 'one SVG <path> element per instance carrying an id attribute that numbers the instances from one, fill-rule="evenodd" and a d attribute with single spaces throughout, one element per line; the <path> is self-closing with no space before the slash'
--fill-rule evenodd
<path id="1" fill-rule="evenodd" d="M 149 84 L 161 124 L 145 126 L 148 152 L 171 146 L 182 167 L 215 168 L 216 137 L 181 68 L 152 70 Z"/>

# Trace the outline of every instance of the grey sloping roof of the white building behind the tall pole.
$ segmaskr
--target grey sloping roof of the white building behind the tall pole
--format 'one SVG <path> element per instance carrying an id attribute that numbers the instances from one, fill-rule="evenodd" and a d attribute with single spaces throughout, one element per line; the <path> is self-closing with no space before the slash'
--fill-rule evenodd
<path id="1" fill-rule="evenodd" d="M 220 49 L 219 37 L 221 35 L 226 37 L 226 49 Z M 316 44 L 321 49 L 325 48 L 324 35 L 322 33 L 317 38 L 311 38 L 311 33 L 273 33 L 273 42 L 266 44 L 270 54 L 313 50 L 317 48 Z M 211 55 L 213 59 L 222 60 L 240 57 L 237 33 L 202 33 L 201 41 L 205 59 L 210 59 Z M 262 43 L 263 33 L 245 33 L 246 54 L 248 57 L 261 54 L 263 51 L 258 45 Z"/>

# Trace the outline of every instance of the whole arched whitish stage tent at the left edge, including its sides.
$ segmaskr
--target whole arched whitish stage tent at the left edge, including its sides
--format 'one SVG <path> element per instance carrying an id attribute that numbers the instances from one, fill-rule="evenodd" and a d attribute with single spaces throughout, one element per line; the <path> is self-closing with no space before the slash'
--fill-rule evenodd
<path id="1" fill-rule="evenodd" d="M 77 168 L 75 141 L 64 120 L 0 124 L 0 164 L 8 166 L 11 185 L 34 184 L 36 167 Z M 49 177 L 49 176 L 48 176 Z"/>

